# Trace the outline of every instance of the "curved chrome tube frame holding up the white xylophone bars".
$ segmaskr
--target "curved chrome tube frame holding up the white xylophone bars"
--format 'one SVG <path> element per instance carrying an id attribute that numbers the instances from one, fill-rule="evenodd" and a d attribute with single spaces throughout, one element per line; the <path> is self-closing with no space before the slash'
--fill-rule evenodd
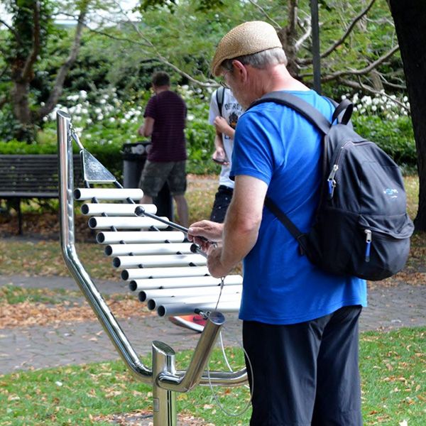
<path id="1" fill-rule="evenodd" d="M 62 256 L 67 268 L 79 285 L 84 297 L 97 315 L 99 322 L 116 347 L 121 358 L 130 371 L 146 383 L 153 383 L 168 391 L 187 392 L 200 384 L 202 386 L 241 386 L 247 381 L 246 369 L 236 372 L 211 371 L 204 372 L 207 360 L 211 355 L 214 342 L 224 324 L 224 316 L 220 312 L 212 312 L 204 331 L 200 336 L 195 352 L 187 371 L 161 371 L 153 376 L 153 371 L 143 365 L 136 351 L 134 351 L 123 330 L 116 322 L 107 303 L 97 290 L 87 271 L 85 271 L 75 250 L 75 222 L 74 222 L 74 176 L 72 164 L 72 138 L 70 116 L 58 111 L 58 152 L 59 152 L 59 202 L 60 202 L 60 245 Z M 77 141 L 83 150 L 80 141 Z"/>

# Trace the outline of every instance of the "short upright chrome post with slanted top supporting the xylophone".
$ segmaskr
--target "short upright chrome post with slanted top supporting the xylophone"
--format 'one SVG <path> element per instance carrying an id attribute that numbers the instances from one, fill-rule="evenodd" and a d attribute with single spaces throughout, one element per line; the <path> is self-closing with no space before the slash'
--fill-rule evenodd
<path id="1" fill-rule="evenodd" d="M 176 426 L 176 393 L 160 388 L 160 373 L 175 373 L 175 351 L 163 342 L 153 342 L 153 423 L 154 426 Z"/>

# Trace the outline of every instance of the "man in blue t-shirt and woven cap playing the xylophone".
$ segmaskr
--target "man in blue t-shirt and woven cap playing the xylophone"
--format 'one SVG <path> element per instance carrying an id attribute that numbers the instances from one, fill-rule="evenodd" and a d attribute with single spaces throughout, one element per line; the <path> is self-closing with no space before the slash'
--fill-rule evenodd
<path id="1" fill-rule="evenodd" d="M 244 109 L 285 90 L 331 119 L 331 102 L 291 77 L 286 63 L 274 28 L 253 21 L 222 38 L 212 72 L 222 75 Z M 249 109 L 235 133 L 235 187 L 225 222 L 202 221 L 189 229 L 190 239 L 207 251 L 213 276 L 244 261 L 239 317 L 250 361 L 251 426 L 362 424 L 358 320 L 366 283 L 314 266 L 263 207 L 268 195 L 301 231 L 310 229 L 320 197 L 321 153 L 320 133 L 293 109 L 273 102 Z"/>

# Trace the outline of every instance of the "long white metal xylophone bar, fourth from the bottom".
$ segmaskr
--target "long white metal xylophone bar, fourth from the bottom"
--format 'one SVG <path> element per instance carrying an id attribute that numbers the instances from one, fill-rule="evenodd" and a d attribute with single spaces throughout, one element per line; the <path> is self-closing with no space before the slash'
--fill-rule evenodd
<path id="1" fill-rule="evenodd" d="M 147 268 L 148 269 L 148 268 Z M 191 268 L 190 268 L 191 269 Z M 243 277 L 241 275 L 227 275 L 224 280 L 224 285 L 241 285 Z M 172 288 L 194 288 L 194 287 L 208 287 L 220 285 L 220 278 L 211 276 L 195 276 L 189 277 L 187 275 L 176 278 L 154 278 L 142 279 L 131 281 L 131 290 L 151 290 L 155 288 L 170 289 Z M 173 290 L 172 290 L 173 291 Z M 192 289 L 190 290 L 192 291 Z"/>

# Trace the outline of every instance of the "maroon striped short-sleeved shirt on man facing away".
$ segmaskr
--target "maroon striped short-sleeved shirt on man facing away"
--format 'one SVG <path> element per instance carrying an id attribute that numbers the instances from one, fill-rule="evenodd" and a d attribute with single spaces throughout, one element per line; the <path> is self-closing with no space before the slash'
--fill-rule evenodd
<path id="1" fill-rule="evenodd" d="M 166 90 L 149 99 L 143 114 L 154 119 L 148 160 L 158 163 L 186 160 L 186 114 L 185 102 L 175 92 Z"/>

